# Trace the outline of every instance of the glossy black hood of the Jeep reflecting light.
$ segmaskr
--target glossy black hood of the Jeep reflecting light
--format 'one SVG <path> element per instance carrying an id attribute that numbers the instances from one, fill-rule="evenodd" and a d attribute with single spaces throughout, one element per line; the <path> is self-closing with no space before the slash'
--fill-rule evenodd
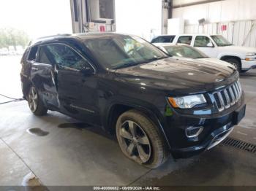
<path id="1" fill-rule="evenodd" d="M 238 78 L 236 69 L 206 61 L 165 58 L 115 71 L 118 79 L 140 87 L 171 90 L 172 93 L 202 93 Z"/>

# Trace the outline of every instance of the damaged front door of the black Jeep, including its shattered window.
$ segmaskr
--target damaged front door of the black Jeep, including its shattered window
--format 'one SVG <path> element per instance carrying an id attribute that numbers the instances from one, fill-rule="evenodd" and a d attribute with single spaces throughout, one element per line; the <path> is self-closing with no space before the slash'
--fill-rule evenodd
<path id="1" fill-rule="evenodd" d="M 94 68 L 67 44 L 48 44 L 52 53 L 60 111 L 99 124 L 97 76 Z"/>

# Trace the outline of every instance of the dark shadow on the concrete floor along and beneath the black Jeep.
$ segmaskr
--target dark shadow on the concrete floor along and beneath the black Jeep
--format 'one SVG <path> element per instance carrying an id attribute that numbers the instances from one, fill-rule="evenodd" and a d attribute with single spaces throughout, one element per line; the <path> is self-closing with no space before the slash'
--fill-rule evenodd
<path id="1" fill-rule="evenodd" d="M 58 128 L 61 131 L 67 130 L 68 133 L 63 134 L 69 135 L 69 138 L 66 136 L 65 141 L 58 141 L 61 143 L 58 145 L 64 144 L 67 155 L 75 156 L 75 160 L 79 161 L 82 169 L 88 168 L 88 163 L 93 163 L 97 168 L 100 167 L 108 172 L 116 171 L 119 177 L 129 177 L 131 180 L 131 168 L 134 168 L 136 175 L 141 173 L 140 178 L 137 180 L 133 179 L 133 181 L 130 181 L 129 185 L 219 185 L 225 184 L 225 182 L 231 184 L 233 179 L 231 179 L 230 176 L 235 176 L 238 173 L 234 166 L 236 157 L 230 156 L 224 149 L 219 149 L 219 146 L 202 155 L 188 159 L 173 160 L 173 158 L 170 157 L 167 162 L 159 168 L 149 170 L 126 159 L 124 155 L 121 154 L 121 150 L 118 149 L 118 144 L 116 143 L 115 145 L 112 142 L 113 140 L 116 141 L 116 136 L 106 133 L 102 128 L 91 126 L 86 122 L 80 122 L 62 114 L 56 114 L 56 112 L 49 112 L 45 117 L 39 117 L 39 119 L 42 120 L 43 123 L 48 122 L 49 126 L 53 128 Z M 59 130 L 57 132 L 58 135 L 61 136 L 62 132 L 59 132 Z M 71 130 L 72 133 L 70 133 L 69 130 Z M 83 136 L 81 133 L 85 133 L 85 135 Z M 99 139 L 97 136 L 92 136 L 91 133 L 102 136 L 102 139 Z M 84 140 L 83 138 L 89 140 Z M 111 139 L 111 141 L 103 138 Z M 54 137 L 54 139 L 56 139 L 56 137 Z M 89 144 L 90 141 L 93 142 L 93 144 Z M 54 140 L 52 142 L 54 142 Z M 70 144 L 70 142 L 72 142 L 72 144 Z M 73 147 L 77 144 L 79 147 Z M 111 147 L 107 147 L 107 145 Z M 88 155 L 88 153 L 91 153 L 91 155 Z M 106 160 L 99 160 L 102 156 L 105 156 Z M 126 164 L 125 168 L 120 166 L 121 164 L 124 165 L 124 163 Z M 135 169 L 137 169 L 137 171 Z M 227 179 L 223 178 L 223 174 Z"/>

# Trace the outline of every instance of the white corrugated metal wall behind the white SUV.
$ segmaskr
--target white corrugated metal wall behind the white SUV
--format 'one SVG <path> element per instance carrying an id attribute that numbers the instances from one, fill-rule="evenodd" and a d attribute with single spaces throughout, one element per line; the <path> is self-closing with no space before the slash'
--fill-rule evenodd
<path id="1" fill-rule="evenodd" d="M 227 31 L 221 31 L 221 26 L 226 25 Z M 189 25 L 184 28 L 185 34 L 222 34 L 236 45 L 256 47 L 256 20 L 241 20 L 225 23 L 208 23 L 203 26 Z"/>

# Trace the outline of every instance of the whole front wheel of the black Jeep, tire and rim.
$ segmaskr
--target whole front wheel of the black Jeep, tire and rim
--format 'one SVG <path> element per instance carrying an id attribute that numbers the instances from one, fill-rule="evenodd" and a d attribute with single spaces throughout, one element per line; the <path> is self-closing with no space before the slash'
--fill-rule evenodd
<path id="1" fill-rule="evenodd" d="M 118 117 L 116 137 L 124 155 L 146 168 L 157 168 L 169 156 L 157 125 L 135 109 Z"/>

